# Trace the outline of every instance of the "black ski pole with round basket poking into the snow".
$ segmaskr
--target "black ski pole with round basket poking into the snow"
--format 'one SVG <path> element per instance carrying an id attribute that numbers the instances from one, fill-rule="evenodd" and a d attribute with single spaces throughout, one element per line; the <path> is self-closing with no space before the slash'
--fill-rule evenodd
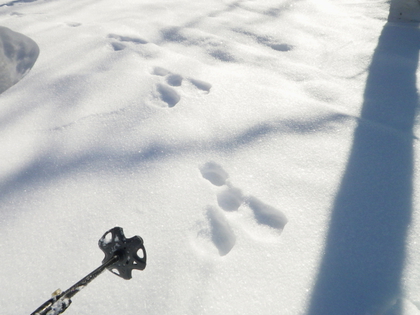
<path id="1" fill-rule="evenodd" d="M 31 315 L 63 313 L 70 306 L 71 298 L 105 269 L 128 280 L 131 279 L 133 269 L 144 270 L 146 268 L 146 249 L 140 236 L 127 239 L 122 228 L 114 227 L 99 239 L 98 245 L 105 254 L 102 264 L 66 291 L 56 290 L 53 297 L 38 307 Z M 141 250 L 141 257 L 138 255 L 139 250 Z"/>

